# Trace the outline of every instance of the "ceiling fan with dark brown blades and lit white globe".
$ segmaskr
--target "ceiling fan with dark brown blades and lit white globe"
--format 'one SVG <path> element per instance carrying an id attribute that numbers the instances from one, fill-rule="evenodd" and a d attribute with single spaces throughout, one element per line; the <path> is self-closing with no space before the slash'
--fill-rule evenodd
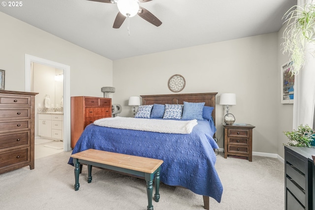
<path id="1" fill-rule="evenodd" d="M 160 26 L 162 22 L 158 20 L 156 16 L 154 16 L 147 9 L 139 6 L 139 3 L 147 2 L 151 0 L 91 0 L 103 3 L 117 3 L 119 12 L 114 21 L 113 28 L 119 29 L 121 25 L 124 23 L 126 17 L 133 17 L 138 14 L 140 17 L 148 21 L 149 23 Z"/>

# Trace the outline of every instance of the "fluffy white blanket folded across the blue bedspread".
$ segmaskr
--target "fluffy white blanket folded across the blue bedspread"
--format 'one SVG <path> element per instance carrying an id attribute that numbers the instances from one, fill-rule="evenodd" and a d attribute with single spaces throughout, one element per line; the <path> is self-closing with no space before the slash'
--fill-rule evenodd
<path id="1" fill-rule="evenodd" d="M 192 128 L 198 124 L 197 120 L 158 120 L 144 118 L 103 118 L 94 121 L 95 125 L 122 128 L 129 130 L 143 130 L 158 133 L 189 134 Z"/>

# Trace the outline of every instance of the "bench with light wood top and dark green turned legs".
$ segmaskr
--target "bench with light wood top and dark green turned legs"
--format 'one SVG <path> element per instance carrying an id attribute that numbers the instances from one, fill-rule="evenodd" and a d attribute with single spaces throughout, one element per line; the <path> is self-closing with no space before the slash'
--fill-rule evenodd
<path id="1" fill-rule="evenodd" d="M 156 193 L 154 195 L 154 200 L 158 202 L 159 174 L 161 168 L 160 166 L 163 163 L 163 160 L 93 149 L 72 154 L 71 157 L 73 158 L 74 164 L 75 190 L 78 190 L 80 187 L 79 184 L 80 165 L 87 164 L 88 183 L 92 181 L 92 166 L 144 177 L 147 182 L 148 195 L 147 210 L 153 210 L 152 183 L 153 180 L 155 180 Z"/>

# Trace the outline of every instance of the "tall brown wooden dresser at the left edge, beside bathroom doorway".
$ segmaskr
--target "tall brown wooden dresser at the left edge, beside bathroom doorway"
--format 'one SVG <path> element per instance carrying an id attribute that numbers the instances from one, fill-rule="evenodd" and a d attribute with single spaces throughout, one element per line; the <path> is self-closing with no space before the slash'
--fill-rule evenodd
<path id="1" fill-rule="evenodd" d="M 35 92 L 0 90 L 0 174 L 34 169 Z"/>

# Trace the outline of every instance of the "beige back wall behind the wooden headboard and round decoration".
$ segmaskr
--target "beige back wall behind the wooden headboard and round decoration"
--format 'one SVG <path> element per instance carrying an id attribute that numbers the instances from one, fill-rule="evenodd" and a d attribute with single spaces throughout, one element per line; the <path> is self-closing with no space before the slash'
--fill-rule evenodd
<path id="1" fill-rule="evenodd" d="M 279 64 L 278 33 L 252 36 L 207 45 L 113 61 L 114 103 L 123 106 L 120 116 L 131 116 L 129 96 L 170 94 L 167 81 L 173 74 L 186 79 L 181 93 L 219 92 L 216 125 L 223 148 L 221 126 L 224 107 L 220 94 L 236 93 L 230 107 L 237 123 L 250 123 L 253 151 L 278 152 Z"/>

